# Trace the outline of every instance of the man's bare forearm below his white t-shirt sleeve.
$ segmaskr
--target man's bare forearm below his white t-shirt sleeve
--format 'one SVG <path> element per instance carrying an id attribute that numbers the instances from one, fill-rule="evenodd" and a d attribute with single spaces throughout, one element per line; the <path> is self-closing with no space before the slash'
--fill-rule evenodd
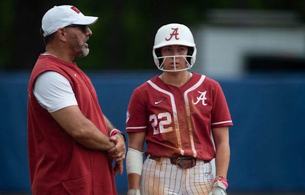
<path id="1" fill-rule="evenodd" d="M 87 148 L 107 151 L 115 146 L 81 113 L 78 106 L 68 106 L 50 114 L 72 138 Z"/>

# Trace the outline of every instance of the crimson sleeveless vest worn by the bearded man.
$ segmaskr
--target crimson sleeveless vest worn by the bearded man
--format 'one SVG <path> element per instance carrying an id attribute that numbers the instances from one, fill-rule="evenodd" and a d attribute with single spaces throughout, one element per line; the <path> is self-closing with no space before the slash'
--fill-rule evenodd
<path id="1" fill-rule="evenodd" d="M 37 102 L 33 85 L 46 71 L 66 77 L 82 114 L 108 135 L 90 79 L 76 63 L 40 55 L 28 83 L 27 141 L 33 194 L 117 194 L 112 160 L 107 152 L 76 142 Z"/>

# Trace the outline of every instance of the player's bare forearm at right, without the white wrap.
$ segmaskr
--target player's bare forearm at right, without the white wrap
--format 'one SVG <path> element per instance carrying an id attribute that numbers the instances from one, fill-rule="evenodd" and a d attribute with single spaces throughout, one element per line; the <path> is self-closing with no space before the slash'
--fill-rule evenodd
<path id="1" fill-rule="evenodd" d="M 229 127 L 212 128 L 216 148 L 216 175 L 227 177 L 230 161 Z"/>

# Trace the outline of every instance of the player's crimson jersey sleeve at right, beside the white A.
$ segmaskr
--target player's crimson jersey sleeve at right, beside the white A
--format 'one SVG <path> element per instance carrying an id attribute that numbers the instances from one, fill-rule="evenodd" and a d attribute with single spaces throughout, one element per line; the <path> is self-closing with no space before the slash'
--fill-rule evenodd
<path id="1" fill-rule="evenodd" d="M 219 83 L 216 85 L 211 110 L 211 128 L 233 125 L 224 92 Z"/>

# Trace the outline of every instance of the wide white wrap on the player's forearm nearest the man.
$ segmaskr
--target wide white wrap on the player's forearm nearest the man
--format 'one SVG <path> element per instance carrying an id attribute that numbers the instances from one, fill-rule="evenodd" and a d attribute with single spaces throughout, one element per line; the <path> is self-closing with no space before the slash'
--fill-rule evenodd
<path id="1" fill-rule="evenodd" d="M 128 148 L 126 156 L 126 172 L 127 175 L 136 173 L 141 176 L 143 166 L 143 152 Z"/>

